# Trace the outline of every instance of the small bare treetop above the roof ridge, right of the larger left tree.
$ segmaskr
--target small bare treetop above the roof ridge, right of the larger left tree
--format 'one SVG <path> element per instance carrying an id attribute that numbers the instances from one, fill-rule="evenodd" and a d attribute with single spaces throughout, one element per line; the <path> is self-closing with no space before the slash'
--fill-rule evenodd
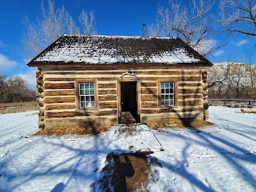
<path id="1" fill-rule="evenodd" d="M 90 16 L 87 12 L 82 10 L 79 15 L 79 22 L 83 25 L 83 31 L 85 35 L 95 34 L 95 15 L 94 12 L 89 12 Z"/>

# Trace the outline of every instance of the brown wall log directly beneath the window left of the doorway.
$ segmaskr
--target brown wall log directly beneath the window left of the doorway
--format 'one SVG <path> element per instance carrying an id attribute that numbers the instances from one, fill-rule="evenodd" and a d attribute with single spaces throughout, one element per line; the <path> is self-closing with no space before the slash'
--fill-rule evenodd
<path id="1" fill-rule="evenodd" d="M 65 112 L 47 112 L 45 118 L 67 118 L 74 116 L 108 116 L 116 115 L 116 110 L 99 111 L 99 110 L 84 110 L 84 111 L 65 111 Z"/>

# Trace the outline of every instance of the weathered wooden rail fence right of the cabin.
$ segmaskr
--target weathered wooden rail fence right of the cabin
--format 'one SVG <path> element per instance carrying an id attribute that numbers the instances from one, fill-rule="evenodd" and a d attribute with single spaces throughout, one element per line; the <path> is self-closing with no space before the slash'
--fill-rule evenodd
<path id="1" fill-rule="evenodd" d="M 208 99 L 210 106 L 227 106 L 230 108 L 256 108 L 256 100 Z"/>

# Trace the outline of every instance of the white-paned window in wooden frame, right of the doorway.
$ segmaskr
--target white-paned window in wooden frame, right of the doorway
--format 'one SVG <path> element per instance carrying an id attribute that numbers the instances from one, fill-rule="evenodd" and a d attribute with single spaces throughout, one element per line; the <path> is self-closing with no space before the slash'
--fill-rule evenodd
<path id="1" fill-rule="evenodd" d="M 158 81 L 158 104 L 159 106 L 178 106 L 177 81 L 161 79 Z"/>

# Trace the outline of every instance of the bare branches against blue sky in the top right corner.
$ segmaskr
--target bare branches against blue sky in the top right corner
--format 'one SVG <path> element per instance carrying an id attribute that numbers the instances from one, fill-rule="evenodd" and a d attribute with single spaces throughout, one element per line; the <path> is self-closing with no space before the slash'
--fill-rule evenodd
<path id="1" fill-rule="evenodd" d="M 220 22 L 230 34 L 256 36 L 255 0 L 221 0 L 220 10 Z"/>

